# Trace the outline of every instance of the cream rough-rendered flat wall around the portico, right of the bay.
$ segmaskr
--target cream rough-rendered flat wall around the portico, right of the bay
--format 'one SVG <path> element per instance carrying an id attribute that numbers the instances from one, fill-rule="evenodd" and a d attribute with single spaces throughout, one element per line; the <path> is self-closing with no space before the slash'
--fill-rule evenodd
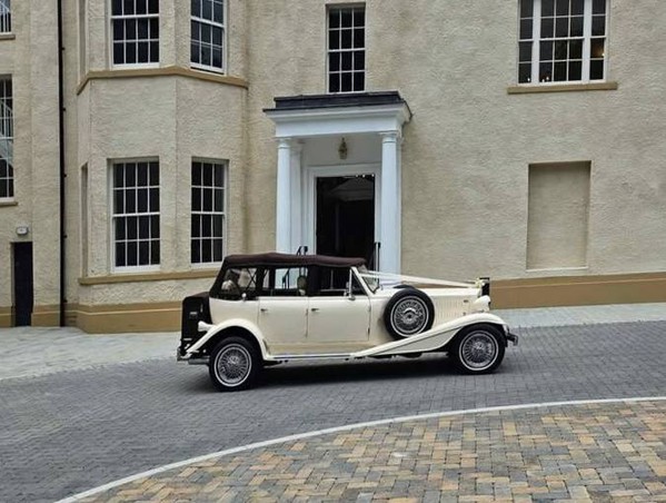
<path id="1" fill-rule="evenodd" d="M 368 90 L 397 89 L 414 112 L 402 144 L 402 270 L 533 276 L 528 166 L 576 160 L 592 164 L 583 274 L 666 270 L 666 80 L 655 59 L 666 11 L 658 0 L 610 4 L 608 78 L 618 90 L 509 95 L 515 2 L 366 2 Z M 325 92 L 326 2 L 248 8 L 249 246 L 262 250 L 275 243 L 277 149 L 261 108 Z"/>

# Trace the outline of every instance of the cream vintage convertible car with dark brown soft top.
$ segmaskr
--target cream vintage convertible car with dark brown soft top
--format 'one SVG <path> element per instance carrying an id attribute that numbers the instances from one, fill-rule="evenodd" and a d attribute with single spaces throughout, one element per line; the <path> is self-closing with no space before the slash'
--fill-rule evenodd
<path id="1" fill-rule="evenodd" d="M 182 303 L 178 361 L 207 364 L 220 391 L 250 387 L 264 366 L 316 358 L 444 352 L 493 372 L 518 338 L 489 310 L 488 280 L 368 272 L 360 258 L 231 255 L 208 293 Z"/>

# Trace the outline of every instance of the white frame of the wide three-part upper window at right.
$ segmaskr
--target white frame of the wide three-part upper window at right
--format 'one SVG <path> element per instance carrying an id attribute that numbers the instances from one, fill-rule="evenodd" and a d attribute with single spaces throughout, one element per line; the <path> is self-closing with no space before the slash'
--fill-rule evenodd
<path id="1" fill-rule="evenodd" d="M 521 87 L 548 87 L 548 86 L 578 86 L 578 85 L 590 85 L 590 83 L 603 83 L 603 82 L 608 82 L 609 78 L 608 78 L 608 59 L 609 59 L 609 55 L 608 55 L 608 37 L 609 37 L 609 18 L 610 18 L 610 0 L 604 0 L 605 1 L 605 12 L 604 12 L 604 21 L 605 21 L 605 31 L 604 31 L 604 36 L 595 36 L 593 34 L 593 17 L 594 16 L 599 16 L 599 14 L 595 14 L 594 10 L 593 10 L 593 4 L 594 4 L 594 0 L 584 0 L 584 10 L 583 10 L 583 36 L 581 37 L 556 37 L 556 33 L 554 33 L 553 38 L 547 38 L 544 39 L 541 38 L 541 4 L 544 0 L 528 0 L 530 2 L 533 2 L 533 14 L 531 14 L 531 38 L 530 39 L 521 39 L 520 38 L 520 23 L 523 21 L 523 19 L 527 19 L 527 18 L 523 18 L 521 17 L 521 3 L 526 1 L 526 0 L 519 0 L 518 1 L 518 12 L 517 12 L 517 58 L 516 58 L 516 70 L 515 70 L 515 75 L 516 75 L 516 81 L 518 86 Z M 555 4 L 557 4 L 557 0 L 555 0 Z M 557 6 L 555 6 L 555 9 L 557 8 Z M 569 19 L 571 17 L 570 10 L 569 10 L 569 14 L 568 14 Z M 553 17 L 554 19 L 556 19 L 556 14 L 554 14 Z M 592 40 L 593 39 L 599 39 L 603 38 L 604 39 L 604 52 L 603 52 L 603 57 L 604 57 L 604 77 L 602 79 L 592 79 L 590 78 L 590 61 L 594 58 L 590 58 L 590 46 L 592 46 Z M 540 81 L 539 80 L 539 71 L 540 71 L 540 63 L 541 63 L 541 59 L 540 59 L 540 45 L 541 42 L 546 41 L 557 41 L 557 40 L 561 40 L 561 41 L 570 41 L 570 40 L 576 40 L 576 39 L 581 39 L 583 41 L 583 55 L 581 55 L 581 73 L 580 73 L 580 79 L 579 80 L 568 80 L 568 75 L 567 75 L 567 80 L 548 80 L 548 81 Z M 530 57 L 530 81 L 528 82 L 520 82 L 520 63 L 521 62 L 527 62 L 527 61 L 521 61 L 520 60 L 520 45 L 524 42 L 529 42 L 531 43 L 531 57 Z M 567 55 L 568 56 L 568 55 Z M 577 60 L 577 59 L 576 59 Z M 558 60 L 553 60 L 553 62 L 558 61 Z M 571 59 L 569 59 L 567 57 L 567 59 L 565 60 L 559 60 L 559 61 L 565 61 L 565 62 L 569 62 L 571 61 Z"/>

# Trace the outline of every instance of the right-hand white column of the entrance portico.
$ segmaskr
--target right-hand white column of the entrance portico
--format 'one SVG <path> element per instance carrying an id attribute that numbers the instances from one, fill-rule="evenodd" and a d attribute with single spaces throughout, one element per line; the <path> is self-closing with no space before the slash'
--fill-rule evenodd
<path id="1" fill-rule="evenodd" d="M 381 215 L 379 269 L 400 273 L 400 138 L 381 134 Z"/>

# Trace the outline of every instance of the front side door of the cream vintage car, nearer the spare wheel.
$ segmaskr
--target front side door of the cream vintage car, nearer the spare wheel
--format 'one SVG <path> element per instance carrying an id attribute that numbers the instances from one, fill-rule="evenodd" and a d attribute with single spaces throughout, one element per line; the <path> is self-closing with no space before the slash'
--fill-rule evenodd
<path id="1" fill-rule="evenodd" d="M 344 273 L 344 275 L 340 275 Z M 352 294 L 349 295 L 349 279 Z M 308 343 L 335 345 L 337 351 L 358 349 L 351 343 L 369 341 L 370 300 L 357 279 L 345 272 L 321 269 L 319 285 L 314 288 L 308 305 Z M 348 349 L 345 348 L 348 344 Z"/>

